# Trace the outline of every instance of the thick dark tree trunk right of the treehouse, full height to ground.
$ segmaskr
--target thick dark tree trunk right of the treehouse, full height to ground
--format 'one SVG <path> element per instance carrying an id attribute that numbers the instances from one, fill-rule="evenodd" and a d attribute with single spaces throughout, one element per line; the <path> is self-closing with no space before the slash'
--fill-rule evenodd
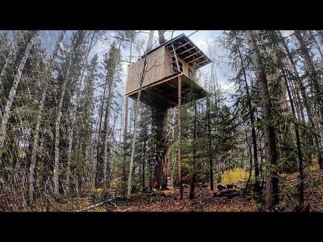
<path id="1" fill-rule="evenodd" d="M 248 45 L 252 52 L 252 61 L 256 69 L 256 77 L 258 80 L 258 87 L 262 98 L 261 113 L 266 124 L 263 128 L 265 149 L 266 149 L 266 163 L 270 164 L 270 168 L 266 170 L 266 194 L 265 207 L 268 210 L 273 209 L 278 205 L 278 175 L 276 171 L 277 166 L 277 150 L 276 150 L 276 134 L 273 125 L 271 124 L 272 117 L 272 101 L 268 91 L 268 83 L 266 74 L 262 67 L 259 50 L 257 49 L 253 32 L 246 30 L 245 35 L 248 39 Z"/>

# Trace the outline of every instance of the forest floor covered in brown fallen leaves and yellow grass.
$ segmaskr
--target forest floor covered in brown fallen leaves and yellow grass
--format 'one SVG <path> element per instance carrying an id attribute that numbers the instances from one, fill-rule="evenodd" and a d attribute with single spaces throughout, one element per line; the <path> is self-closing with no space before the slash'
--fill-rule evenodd
<path id="1" fill-rule="evenodd" d="M 245 170 L 235 170 L 223 174 L 221 184 L 233 183 L 237 189 L 244 187 Z M 242 179 L 241 179 L 242 178 Z M 298 207 L 297 184 L 298 173 L 281 174 L 279 179 L 280 204 L 279 211 L 295 211 Z M 257 196 L 249 191 L 245 196 L 237 197 L 214 197 L 214 192 L 219 192 L 217 185 L 214 191 L 210 191 L 208 184 L 197 183 L 195 198 L 189 199 L 189 185 L 184 185 L 184 200 L 179 200 L 179 189 L 173 191 L 138 193 L 131 195 L 127 200 L 114 198 L 95 208 L 85 211 L 151 211 L 151 212 L 174 212 L 174 211 L 206 211 L 206 212 L 238 212 L 238 211 L 263 211 L 263 193 Z M 100 192 L 100 191 L 99 191 Z M 93 198 L 93 195 L 92 195 Z M 97 197 L 96 197 L 97 198 Z M 323 211 L 323 170 L 311 167 L 306 172 L 304 200 L 305 207 L 309 211 Z M 98 201 L 97 199 L 95 199 Z M 73 202 L 56 204 L 52 211 L 76 211 L 96 204 L 91 198 L 82 200 L 74 199 Z"/>

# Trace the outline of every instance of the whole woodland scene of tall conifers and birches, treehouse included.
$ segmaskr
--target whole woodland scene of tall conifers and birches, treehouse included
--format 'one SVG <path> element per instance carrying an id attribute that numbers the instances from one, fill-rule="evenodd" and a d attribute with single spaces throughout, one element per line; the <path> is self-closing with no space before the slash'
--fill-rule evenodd
<path id="1" fill-rule="evenodd" d="M 0 211 L 323 211 L 322 30 L 1 30 L 0 72 Z"/>

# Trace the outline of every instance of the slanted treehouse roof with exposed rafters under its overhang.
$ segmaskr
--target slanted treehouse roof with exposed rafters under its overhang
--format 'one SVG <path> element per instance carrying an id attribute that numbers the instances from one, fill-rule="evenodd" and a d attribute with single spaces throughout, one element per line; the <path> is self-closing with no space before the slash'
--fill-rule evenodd
<path id="1" fill-rule="evenodd" d="M 198 65 L 198 68 L 204 67 L 205 65 L 211 63 L 209 57 L 203 53 L 185 34 L 180 34 L 165 43 L 149 50 L 147 55 L 161 46 L 168 46 L 170 44 L 174 45 L 176 54 L 181 57 L 188 65 L 193 67 L 194 63 Z M 143 58 L 141 56 L 141 58 Z"/>

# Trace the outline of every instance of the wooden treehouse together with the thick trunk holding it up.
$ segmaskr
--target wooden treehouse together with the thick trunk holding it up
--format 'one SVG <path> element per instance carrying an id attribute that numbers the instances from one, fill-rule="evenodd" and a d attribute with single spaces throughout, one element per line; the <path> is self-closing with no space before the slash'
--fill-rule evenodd
<path id="1" fill-rule="evenodd" d="M 167 153 L 174 139 L 168 124 L 168 109 L 198 100 L 207 92 L 194 81 L 194 70 L 211 60 L 184 34 L 151 49 L 128 67 L 125 95 L 151 110 L 156 144 L 148 159 L 150 190 L 172 187 L 168 173 Z M 181 133 L 181 128 L 180 128 Z"/>

